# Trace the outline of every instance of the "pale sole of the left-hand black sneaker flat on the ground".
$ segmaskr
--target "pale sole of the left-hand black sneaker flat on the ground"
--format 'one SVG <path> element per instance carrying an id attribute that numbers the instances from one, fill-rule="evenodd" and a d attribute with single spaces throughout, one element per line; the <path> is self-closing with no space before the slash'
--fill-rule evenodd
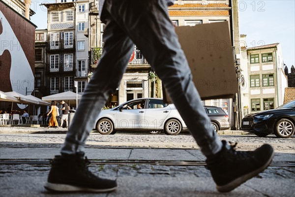
<path id="1" fill-rule="evenodd" d="M 111 192 L 117 189 L 117 187 L 114 188 L 107 188 L 107 189 L 93 189 L 93 188 L 84 188 L 84 187 L 78 187 L 73 185 L 65 185 L 65 184 L 56 184 L 56 183 L 46 183 L 44 185 L 44 188 L 49 191 L 54 192 Z"/>

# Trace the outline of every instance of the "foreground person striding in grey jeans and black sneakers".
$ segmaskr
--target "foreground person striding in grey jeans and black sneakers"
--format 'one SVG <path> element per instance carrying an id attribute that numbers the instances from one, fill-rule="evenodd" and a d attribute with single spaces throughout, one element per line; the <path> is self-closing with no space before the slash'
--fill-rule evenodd
<path id="1" fill-rule="evenodd" d="M 117 188 L 115 180 L 96 177 L 88 170 L 84 146 L 108 95 L 122 79 L 133 43 L 162 80 L 206 156 L 207 168 L 219 192 L 229 192 L 264 170 L 274 154 L 270 145 L 255 151 L 236 151 L 213 131 L 169 19 L 168 5 L 173 1 L 105 0 L 100 2 L 100 8 L 102 3 L 100 19 L 106 24 L 103 53 L 67 132 L 61 156 L 54 159 L 45 188 L 68 192 L 108 192 Z"/>

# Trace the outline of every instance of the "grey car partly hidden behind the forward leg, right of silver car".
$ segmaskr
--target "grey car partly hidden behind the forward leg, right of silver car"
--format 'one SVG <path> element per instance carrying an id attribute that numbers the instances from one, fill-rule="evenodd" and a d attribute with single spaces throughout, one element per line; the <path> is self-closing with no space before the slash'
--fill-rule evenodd
<path id="1" fill-rule="evenodd" d="M 228 130 L 231 127 L 229 116 L 220 107 L 204 106 L 215 132 Z"/>

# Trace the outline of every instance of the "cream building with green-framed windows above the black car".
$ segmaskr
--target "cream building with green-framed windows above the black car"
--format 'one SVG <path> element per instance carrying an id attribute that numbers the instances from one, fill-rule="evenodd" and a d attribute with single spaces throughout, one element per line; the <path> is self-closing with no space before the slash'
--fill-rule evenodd
<path id="1" fill-rule="evenodd" d="M 245 79 L 242 90 L 243 115 L 282 105 L 287 77 L 283 70 L 281 45 L 243 46 L 242 57 L 241 68 Z"/>

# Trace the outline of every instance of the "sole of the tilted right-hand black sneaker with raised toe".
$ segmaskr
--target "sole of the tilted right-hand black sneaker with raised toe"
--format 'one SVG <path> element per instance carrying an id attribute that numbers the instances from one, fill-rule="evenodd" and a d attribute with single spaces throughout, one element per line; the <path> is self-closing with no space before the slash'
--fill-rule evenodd
<path id="1" fill-rule="evenodd" d="M 242 183 L 246 182 L 247 180 L 249 180 L 250 178 L 253 178 L 254 176 L 258 175 L 260 172 L 262 172 L 263 170 L 266 169 L 266 167 L 270 164 L 270 162 L 272 161 L 272 158 L 274 156 L 274 150 L 272 150 L 272 154 L 269 157 L 269 160 L 266 162 L 266 164 L 264 164 L 263 166 L 261 166 L 260 168 L 258 168 L 257 170 L 254 170 L 248 174 L 245 174 L 241 177 L 236 178 L 235 180 L 231 181 L 230 183 L 223 185 L 223 186 L 216 186 L 216 189 L 218 192 L 230 192 L 232 190 L 234 190 L 236 187 L 240 186 Z"/>

